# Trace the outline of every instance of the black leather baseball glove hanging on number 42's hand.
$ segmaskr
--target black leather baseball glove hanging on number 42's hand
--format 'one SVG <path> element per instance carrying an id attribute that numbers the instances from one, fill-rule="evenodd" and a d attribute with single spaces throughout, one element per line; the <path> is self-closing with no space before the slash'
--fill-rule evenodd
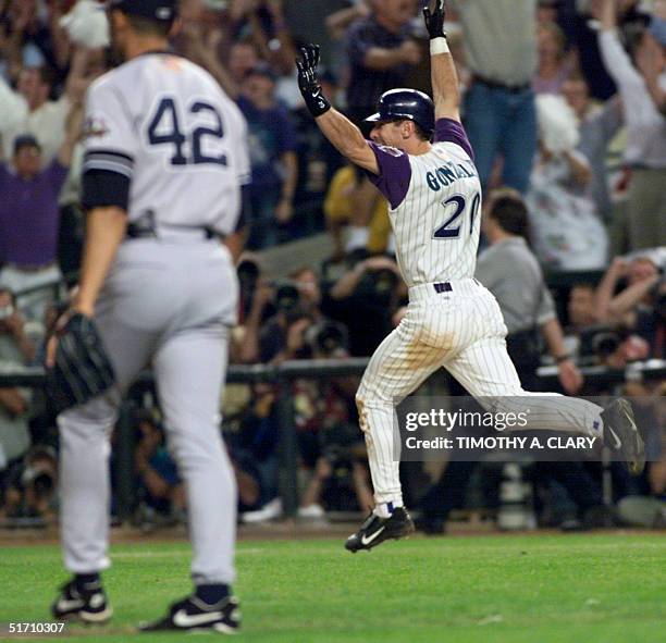
<path id="1" fill-rule="evenodd" d="M 113 366 L 95 322 L 79 312 L 55 331 L 53 364 L 47 367 L 46 391 L 58 413 L 82 405 L 115 383 Z"/>

